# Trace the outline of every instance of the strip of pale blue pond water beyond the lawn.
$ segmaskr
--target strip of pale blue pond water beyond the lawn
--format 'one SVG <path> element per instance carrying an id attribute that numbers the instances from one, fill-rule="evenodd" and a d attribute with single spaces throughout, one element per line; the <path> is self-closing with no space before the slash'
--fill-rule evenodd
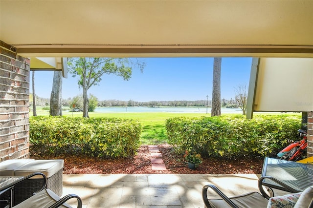
<path id="1" fill-rule="evenodd" d="M 95 112 L 102 113 L 122 113 L 122 112 L 168 112 L 168 113 L 206 113 L 206 107 L 97 107 Z M 207 108 L 207 112 L 211 113 L 211 108 Z M 240 108 L 221 108 L 222 113 L 242 114 Z"/>

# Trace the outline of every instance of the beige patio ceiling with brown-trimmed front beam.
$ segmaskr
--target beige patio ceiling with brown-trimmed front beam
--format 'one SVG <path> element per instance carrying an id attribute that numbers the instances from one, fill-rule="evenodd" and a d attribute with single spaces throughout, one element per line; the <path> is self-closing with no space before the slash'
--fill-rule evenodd
<path id="1" fill-rule="evenodd" d="M 0 0 L 25 57 L 313 57 L 313 0 Z"/>

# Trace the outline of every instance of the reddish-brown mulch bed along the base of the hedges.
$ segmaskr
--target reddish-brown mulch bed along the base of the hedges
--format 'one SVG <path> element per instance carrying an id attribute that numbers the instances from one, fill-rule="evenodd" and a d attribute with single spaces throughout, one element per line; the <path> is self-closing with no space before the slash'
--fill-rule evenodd
<path id="1" fill-rule="evenodd" d="M 245 158 L 229 160 L 221 158 L 204 158 L 196 169 L 189 169 L 182 157 L 175 155 L 172 146 L 158 145 L 167 170 L 152 170 L 148 146 L 140 146 L 137 155 L 122 159 L 101 159 L 73 155 L 31 155 L 32 159 L 63 159 L 64 174 L 260 174 L 263 159 Z"/>

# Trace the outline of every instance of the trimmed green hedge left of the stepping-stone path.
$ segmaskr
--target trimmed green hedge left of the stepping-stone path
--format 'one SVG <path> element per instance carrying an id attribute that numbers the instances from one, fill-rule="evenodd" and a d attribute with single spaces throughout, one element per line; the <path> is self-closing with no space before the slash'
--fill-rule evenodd
<path id="1" fill-rule="evenodd" d="M 129 157 L 139 147 L 142 126 L 116 118 L 31 117 L 30 144 L 35 151 Z"/>

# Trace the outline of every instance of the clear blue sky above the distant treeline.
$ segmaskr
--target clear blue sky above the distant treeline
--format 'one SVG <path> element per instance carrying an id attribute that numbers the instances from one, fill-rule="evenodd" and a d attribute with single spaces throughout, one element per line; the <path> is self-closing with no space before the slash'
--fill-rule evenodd
<path id="1" fill-rule="evenodd" d="M 140 58 L 146 62 L 143 73 L 133 69 L 132 78 L 124 81 L 115 75 L 104 75 L 99 86 L 92 86 L 89 93 L 101 100 L 130 99 L 139 102 L 212 99 L 213 58 Z M 252 58 L 222 58 L 221 98 L 235 97 L 235 87 L 248 87 Z M 35 93 L 49 98 L 52 89 L 52 71 L 35 72 Z M 78 78 L 68 74 L 63 79 L 62 98 L 82 94 Z M 30 77 L 30 92 L 32 83 Z"/>

